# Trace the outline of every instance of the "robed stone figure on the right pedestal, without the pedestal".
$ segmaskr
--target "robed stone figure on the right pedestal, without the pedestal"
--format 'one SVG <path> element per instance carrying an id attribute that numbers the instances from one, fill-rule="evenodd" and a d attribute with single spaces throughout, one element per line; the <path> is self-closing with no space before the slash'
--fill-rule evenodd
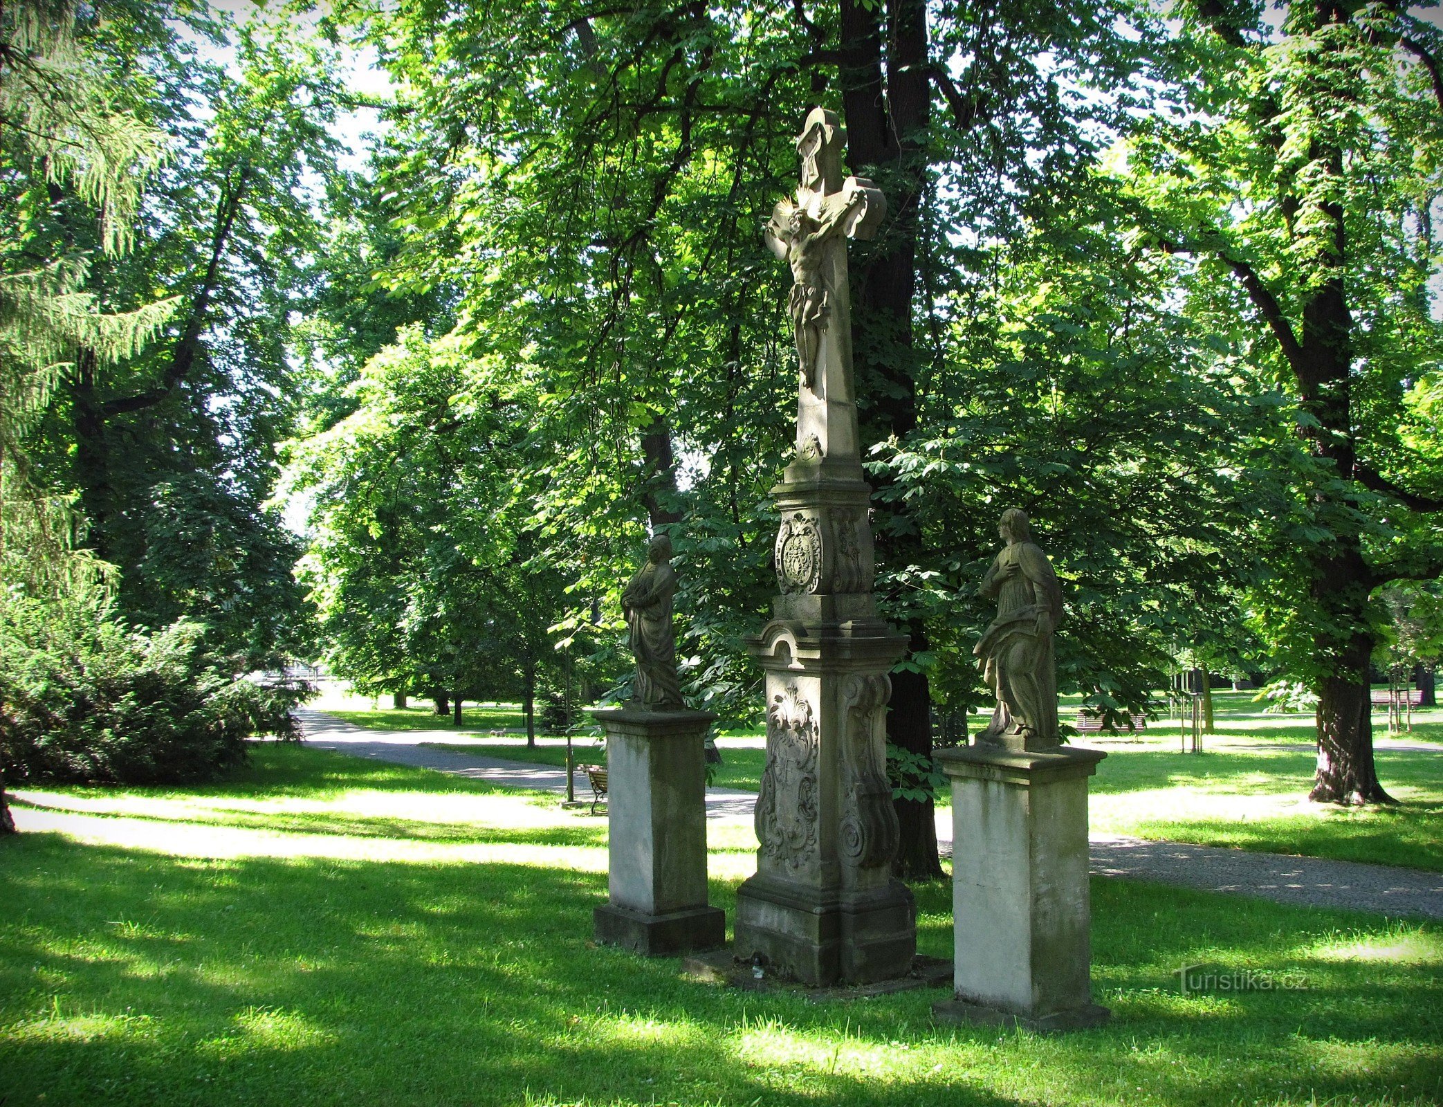
<path id="1" fill-rule="evenodd" d="M 1009 508 L 999 527 L 1007 546 L 983 577 L 997 618 L 977 648 L 983 677 L 997 697 L 980 746 L 1035 751 L 1058 745 L 1058 673 L 1052 632 L 1062 618 L 1062 589 L 1048 556 L 1032 541 L 1027 515 Z"/>

